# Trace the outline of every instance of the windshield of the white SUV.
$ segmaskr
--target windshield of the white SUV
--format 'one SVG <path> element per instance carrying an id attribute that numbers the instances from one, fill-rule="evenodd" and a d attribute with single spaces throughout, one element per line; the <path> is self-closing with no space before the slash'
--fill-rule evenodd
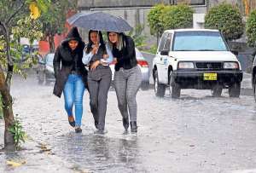
<path id="1" fill-rule="evenodd" d="M 227 51 L 227 45 L 219 32 L 176 32 L 173 51 Z"/>

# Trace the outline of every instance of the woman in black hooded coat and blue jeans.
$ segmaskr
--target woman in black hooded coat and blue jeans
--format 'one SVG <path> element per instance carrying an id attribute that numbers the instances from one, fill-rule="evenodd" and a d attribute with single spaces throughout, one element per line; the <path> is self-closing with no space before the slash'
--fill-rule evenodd
<path id="1" fill-rule="evenodd" d="M 78 29 L 73 27 L 66 39 L 55 50 L 54 95 L 61 97 L 64 94 L 65 109 L 68 122 L 75 127 L 77 133 L 82 132 L 81 119 L 83 114 L 83 95 L 87 82 L 87 71 L 82 63 L 84 42 L 79 36 Z M 75 106 L 75 120 L 73 118 L 73 105 Z"/>

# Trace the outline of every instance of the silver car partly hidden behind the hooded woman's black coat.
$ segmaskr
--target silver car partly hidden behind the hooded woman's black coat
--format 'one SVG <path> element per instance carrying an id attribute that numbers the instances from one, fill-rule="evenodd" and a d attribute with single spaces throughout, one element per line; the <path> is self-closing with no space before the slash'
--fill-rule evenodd
<path id="1" fill-rule="evenodd" d="M 55 54 L 47 54 L 44 58 L 39 58 L 37 77 L 38 84 L 50 84 L 50 82 L 55 81 L 55 72 L 53 68 L 53 59 Z"/>

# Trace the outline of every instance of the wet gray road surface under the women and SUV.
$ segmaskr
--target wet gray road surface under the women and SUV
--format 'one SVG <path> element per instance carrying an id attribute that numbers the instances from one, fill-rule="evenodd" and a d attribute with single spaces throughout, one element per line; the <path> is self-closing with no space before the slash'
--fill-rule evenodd
<path id="1" fill-rule="evenodd" d="M 30 76 L 26 81 L 15 77 L 12 89 L 15 114 L 19 114 L 27 134 L 36 143 L 44 143 L 61 160 L 50 162 L 52 167 L 56 164 L 55 171 L 39 165 L 38 171 L 208 173 L 256 168 L 253 96 L 230 98 L 224 90 L 222 97 L 213 98 L 210 90 L 186 89 L 180 99 L 172 100 L 167 91 L 164 98 L 156 98 L 153 89 L 139 91 L 139 127 L 134 135 L 124 134 L 116 95 L 111 89 L 106 118 L 108 133 L 101 136 L 95 134 L 87 91 L 83 133 L 75 134 L 67 123 L 63 98 L 52 95 L 52 88 L 53 84 L 38 85 L 35 77 Z M 3 155 L 0 154 L 0 161 L 4 161 Z M 28 154 L 24 159 L 27 164 L 15 171 L 33 172 L 35 169 L 30 169 L 29 164 L 32 156 Z"/>

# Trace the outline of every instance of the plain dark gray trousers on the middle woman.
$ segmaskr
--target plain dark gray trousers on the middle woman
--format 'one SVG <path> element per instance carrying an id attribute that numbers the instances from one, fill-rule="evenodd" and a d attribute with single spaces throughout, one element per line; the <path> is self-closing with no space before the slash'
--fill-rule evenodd
<path id="1" fill-rule="evenodd" d="M 88 88 L 90 94 L 90 111 L 94 120 L 98 123 L 98 130 L 104 130 L 105 117 L 108 103 L 108 89 L 111 83 L 111 70 L 101 69 L 97 79 L 88 77 Z"/>

